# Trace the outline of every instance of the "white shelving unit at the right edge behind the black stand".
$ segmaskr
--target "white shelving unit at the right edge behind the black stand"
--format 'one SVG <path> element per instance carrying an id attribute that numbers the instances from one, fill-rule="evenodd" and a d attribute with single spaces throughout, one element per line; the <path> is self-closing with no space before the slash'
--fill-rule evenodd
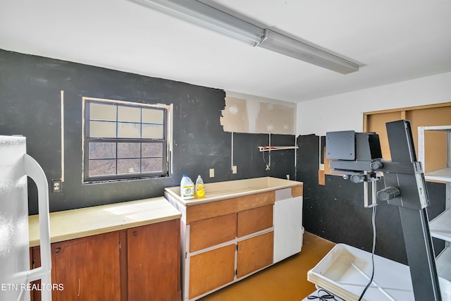
<path id="1" fill-rule="evenodd" d="M 446 242 L 446 247 L 438 255 L 435 265 L 437 266 L 438 276 L 451 281 L 451 125 L 420 126 L 418 128 L 419 161 L 421 161 L 424 170 L 427 166 L 425 160 L 426 131 L 444 131 L 446 133 L 446 166 L 437 171 L 425 173 L 424 177 L 426 180 L 438 180 L 446 183 L 445 211 L 429 222 L 429 230 L 433 238 Z M 431 152 L 431 150 L 428 151 Z"/>

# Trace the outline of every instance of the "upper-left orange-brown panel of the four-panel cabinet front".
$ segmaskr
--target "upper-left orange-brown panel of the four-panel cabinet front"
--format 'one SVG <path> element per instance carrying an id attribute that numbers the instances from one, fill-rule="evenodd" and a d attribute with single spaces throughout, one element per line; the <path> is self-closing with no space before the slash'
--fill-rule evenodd
<path id="1" fill-rule="evenodd" d="M 190 252 L 233 240 L 237 236 L 237 214 L 193 221 L 190 225 Z"/>

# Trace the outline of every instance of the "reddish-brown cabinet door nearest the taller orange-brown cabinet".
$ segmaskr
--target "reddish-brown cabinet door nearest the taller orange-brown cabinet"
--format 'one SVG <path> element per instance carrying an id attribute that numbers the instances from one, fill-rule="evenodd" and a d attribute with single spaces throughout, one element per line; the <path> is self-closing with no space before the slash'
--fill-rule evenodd
<path id="1" fill-rule="evenodd" d="M 127 257 L 128 300 L 180 301 L 180 219 L 128 229 Z"/>

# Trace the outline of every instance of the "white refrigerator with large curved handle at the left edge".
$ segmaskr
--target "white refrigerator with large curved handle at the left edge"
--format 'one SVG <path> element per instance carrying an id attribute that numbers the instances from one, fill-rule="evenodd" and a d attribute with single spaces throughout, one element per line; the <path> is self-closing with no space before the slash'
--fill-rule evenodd
<path id="1" fill-rule="evenodd" d="M 27 177 L 37 186 L 42 266 L 30 269 Z M 30 300 L 41 279 L 42 300 L 51 300 L 49 190 L 41 166 L 26 153 L 26 139 L 0 135 L 0 300 Z"/>

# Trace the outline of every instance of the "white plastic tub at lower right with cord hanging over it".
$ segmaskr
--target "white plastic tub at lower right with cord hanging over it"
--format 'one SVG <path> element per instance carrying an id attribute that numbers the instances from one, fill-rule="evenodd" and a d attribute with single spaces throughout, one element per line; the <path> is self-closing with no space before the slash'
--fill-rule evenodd
<path id="1" fill-rule="evenodd" d="M 374 278 L 363 300 L 414 300 L 409 266 L 374 255 Z M 371 253 L 338 244 L 316 266 L 307 279 L 343 300 L 359 300 L 371 277 Z M 451 301 L 450 282 L 439 278 L 443 300 Z"/>

